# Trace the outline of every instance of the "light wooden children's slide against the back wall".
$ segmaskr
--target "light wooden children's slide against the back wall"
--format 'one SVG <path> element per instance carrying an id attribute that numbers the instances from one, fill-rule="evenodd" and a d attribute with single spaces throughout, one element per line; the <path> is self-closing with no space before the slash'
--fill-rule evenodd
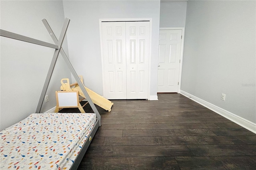
<path id="1" fill-rule="evenodd" d="M 80 77 L 80 80 L 83 84 L 82 76 L 79 76 L 79 77 Z M 64 83 L 63 81 L 66 81 L 66 83 Z M 70 85 L 69 79 L 67 79 L 67 78 L 66 79 L 61 79 L 60 82 L 62 84 L 62 86 L 60 87 L 61 90 L 63 90 L 63 91 L 78 91 L 78 95 L 83 97 L 84 99 L 86 99 L 86 97 L 84 96 L 84 93 L 82 92 L 78 83 L 73 83 L 73 84 Z M 88 95 L 90 96 L 90 98 L 92 99 L 92 102 L 94 104 L 98 105 L 102 109 L 105 109 L 106 111 L 109 111 L 109 112 L 111 111 L 111 107 L 112 107 L 112 105 L 114 105 L 114 103 L 112 103 L 108 99 L 102 97 L 101 95 L 95 93 L 94 91 L 88 89 L 87 87 L 84 86 L 84 88 L 86 89 Z"/>

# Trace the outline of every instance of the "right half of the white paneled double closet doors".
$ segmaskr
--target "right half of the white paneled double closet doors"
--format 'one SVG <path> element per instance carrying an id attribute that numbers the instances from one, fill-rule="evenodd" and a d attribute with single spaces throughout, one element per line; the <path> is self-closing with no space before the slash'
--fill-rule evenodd
<path id="1" fill-rule="evenodd" d="M 148 99 L 149 22 L 126 22 L 127 99 Z"/>

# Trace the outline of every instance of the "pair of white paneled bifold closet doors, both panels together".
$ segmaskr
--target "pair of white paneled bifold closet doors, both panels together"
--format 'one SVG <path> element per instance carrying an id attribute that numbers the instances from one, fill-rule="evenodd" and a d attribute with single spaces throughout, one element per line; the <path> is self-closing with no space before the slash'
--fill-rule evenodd
<path id="1" fill-rule="evenodd" d="M 149 25 L 102 22 L 107 99 L 148 99 Z"/>

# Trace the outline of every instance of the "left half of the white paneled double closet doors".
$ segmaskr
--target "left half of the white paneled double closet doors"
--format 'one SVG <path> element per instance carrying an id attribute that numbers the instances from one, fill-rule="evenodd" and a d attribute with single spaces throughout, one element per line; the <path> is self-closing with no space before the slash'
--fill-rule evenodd
<path id="1" fill-rule="evenodd" d="M 105 96 L 126 99 L 125 22 L 102 22 Z"/>

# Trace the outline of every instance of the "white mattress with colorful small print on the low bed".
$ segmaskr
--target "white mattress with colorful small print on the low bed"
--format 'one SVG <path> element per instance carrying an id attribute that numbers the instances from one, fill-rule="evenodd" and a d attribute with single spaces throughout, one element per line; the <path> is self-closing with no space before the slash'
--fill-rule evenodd
<path id="1" fill-rule="evenodd" d="M 94 113 L 33 113 L 0 132 L 0 169 L 68 170 L 94 123 Z"/>

